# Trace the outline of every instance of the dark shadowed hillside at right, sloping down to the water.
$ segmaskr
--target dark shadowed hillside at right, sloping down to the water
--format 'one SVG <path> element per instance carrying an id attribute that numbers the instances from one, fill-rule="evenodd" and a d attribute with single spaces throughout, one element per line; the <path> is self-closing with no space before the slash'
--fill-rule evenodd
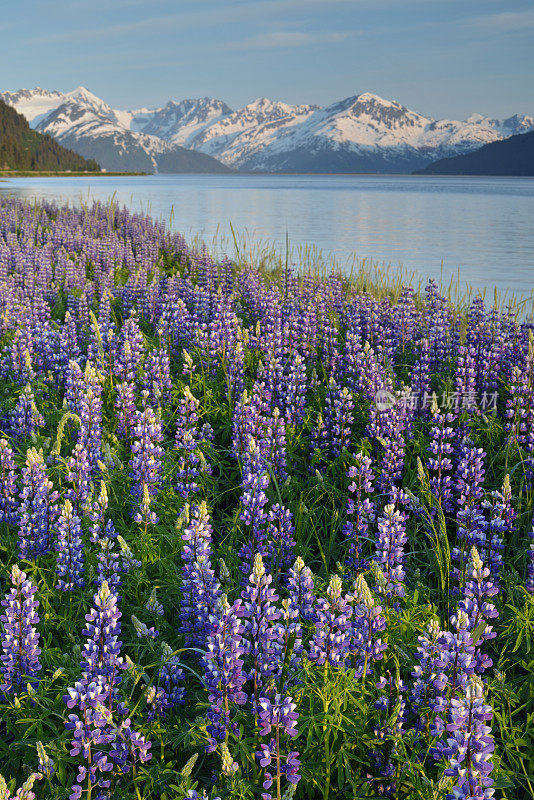
<path id="1" fill-rule="evenodd" d="M 464 156 L 443 158 L 417 174 L 534 176 L 534 131 L 486 144 Z"/>

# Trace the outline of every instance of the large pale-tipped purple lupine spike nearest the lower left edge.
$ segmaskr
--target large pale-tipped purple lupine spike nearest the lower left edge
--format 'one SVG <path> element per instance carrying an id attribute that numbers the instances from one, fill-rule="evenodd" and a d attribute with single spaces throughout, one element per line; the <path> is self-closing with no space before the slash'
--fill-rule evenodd
<path id="1" fill-rule="evenodd" d="M 37 588 L 16 564 L 11 570 L 11 582 L 13 588 L 2 600 L 4 613 L 0 617 L 3 626 L 0 697 L 18 694 L 28 680 L 35 687 L 34 676 L 41 669 L 39 634 L 35 628 L 39 622 L 39 602 L 33 597 Z"/>

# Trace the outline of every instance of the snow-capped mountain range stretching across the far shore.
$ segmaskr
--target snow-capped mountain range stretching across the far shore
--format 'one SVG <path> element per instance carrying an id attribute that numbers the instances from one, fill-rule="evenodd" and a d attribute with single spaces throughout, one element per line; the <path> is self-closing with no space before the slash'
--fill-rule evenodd
<path id="1" fill-rule="evenodd" d="M 185 152 L 252 171 L 411 172 L 534 130 L 533 117 L 434 120 L 367 92 L 326 107 L 260 98 L 237 111 L 208 97 L 117 110 L 83 87 L 0 96 L 32 127 L 108 169 L 174 171 L 173 160 Z M 203 162 L 202 171 L 216 163 Z"/>

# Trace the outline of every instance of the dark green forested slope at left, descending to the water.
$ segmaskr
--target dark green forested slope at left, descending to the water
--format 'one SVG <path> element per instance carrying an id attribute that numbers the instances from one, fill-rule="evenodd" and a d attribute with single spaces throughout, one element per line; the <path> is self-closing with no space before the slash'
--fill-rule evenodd
<path id="1" fill-rule="evenodd" d="M 27 120 L 0 99 L 0 168 L 12 170 L 100 170 L 94 160 L 61 147 L 50 136 L 43 136 Z"/>

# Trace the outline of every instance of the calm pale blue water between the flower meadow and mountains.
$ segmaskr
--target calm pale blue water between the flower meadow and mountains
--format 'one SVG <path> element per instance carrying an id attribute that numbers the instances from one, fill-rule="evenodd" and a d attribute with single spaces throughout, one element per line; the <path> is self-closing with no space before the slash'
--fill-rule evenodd
<path id="1" fill-rule="evenodd" d="M 286 232 L 341 265 L 402 264 L 460 286 L 534 293 L 534 178 L 361 175 L 152 175 L 17 178 L 3 193 L 79 204 L 112 195 L 165 219 L 187 239 L 231 229 L 285 251 Z"/>

